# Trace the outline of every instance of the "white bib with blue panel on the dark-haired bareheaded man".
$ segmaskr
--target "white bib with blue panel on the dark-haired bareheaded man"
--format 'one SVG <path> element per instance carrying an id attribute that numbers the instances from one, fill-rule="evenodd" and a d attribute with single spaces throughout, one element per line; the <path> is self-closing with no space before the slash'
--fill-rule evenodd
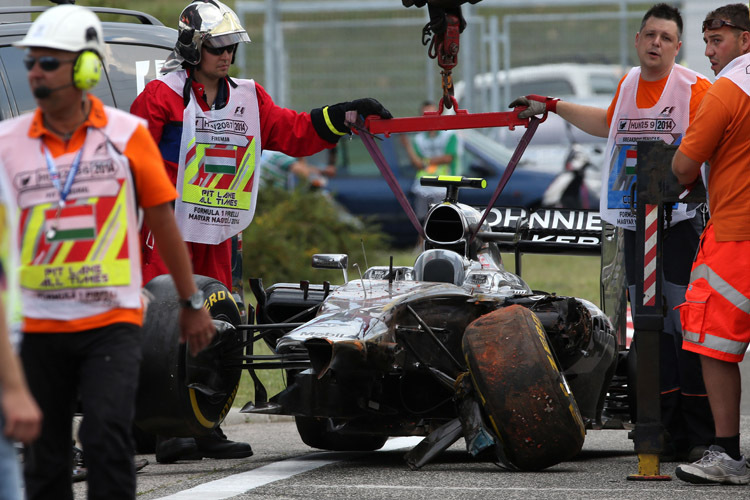
<path id="1" fill-rule="evenodd" d="M 612 115 L 607 139 L 609 161 L 602 168 L 602 190 L 599 212 L 602 219 L 625 229 L 635 230 L 636 205 L 631 188 L 636 178 L 637 145 L 639 141 L 664 141 L 679 144 L 690 121 L 692 85 L 700 76 L 695 71 L 675 64 L 657 103 L 651 108 L 638 108 L 636 95 L 641 68 L 628 72 L 620 86 L 620 94 Z M 632 211 L 631 211 L 632 208 Z M 684 203 L 672 209 L 672 223 L 690 219 Z"/>

